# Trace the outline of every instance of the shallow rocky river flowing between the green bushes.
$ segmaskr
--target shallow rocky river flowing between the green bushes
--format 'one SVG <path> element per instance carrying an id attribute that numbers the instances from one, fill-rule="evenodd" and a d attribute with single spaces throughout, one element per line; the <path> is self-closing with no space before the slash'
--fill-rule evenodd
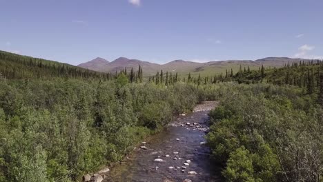
<path id="1" fill-rule="evenodd" d="M 128 160 L 112 168 L 104 181 L 222 181 L 219 167 L 211 161 L 210 150 L 204 145 L 208 110 L 215 105 L 216 102 L 197 105 L 195 112 L 170 123 Z M 190 161 L 185 165 L 187 160 Z"/>

